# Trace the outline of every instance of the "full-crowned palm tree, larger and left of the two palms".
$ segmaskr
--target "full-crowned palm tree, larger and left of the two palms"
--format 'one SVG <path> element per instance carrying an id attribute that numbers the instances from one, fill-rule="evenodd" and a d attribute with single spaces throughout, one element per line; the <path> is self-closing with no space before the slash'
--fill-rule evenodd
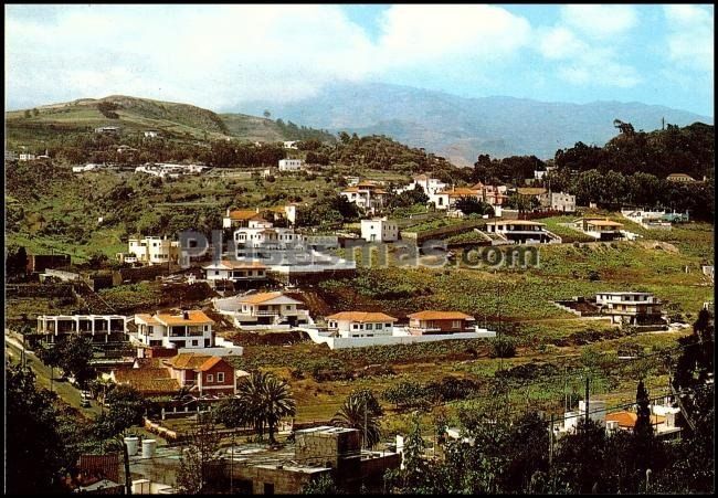
<path id="1" fill-rule="evenodd" d="M 274 433 L 279 421 L 296 413 L 289 384 L 270 372 L 254 372 L 237 385 L 239 403 L 246 406 L 246 420 L 264 436 L 267 427 L 270 443 L 274 444 Z"/>

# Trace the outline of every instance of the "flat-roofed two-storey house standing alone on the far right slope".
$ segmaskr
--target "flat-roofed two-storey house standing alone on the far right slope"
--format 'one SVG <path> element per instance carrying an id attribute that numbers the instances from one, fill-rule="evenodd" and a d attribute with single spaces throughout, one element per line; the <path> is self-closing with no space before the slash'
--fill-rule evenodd
<path id="1" fill-rule="evenodd" d="M 599 312 L 613 324 L 663 325 L 662 303 L 651 293 L 598 293 Z"/>

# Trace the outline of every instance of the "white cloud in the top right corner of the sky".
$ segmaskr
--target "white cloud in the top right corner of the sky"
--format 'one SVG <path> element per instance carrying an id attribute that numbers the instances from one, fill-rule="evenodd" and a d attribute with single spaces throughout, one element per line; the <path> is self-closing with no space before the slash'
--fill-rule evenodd
<path id="1" fill-rule="evenodd" d="M 680 66 L 712 73 L 714 12 L 698 6 L 665 6 L 668 59 Z"/>

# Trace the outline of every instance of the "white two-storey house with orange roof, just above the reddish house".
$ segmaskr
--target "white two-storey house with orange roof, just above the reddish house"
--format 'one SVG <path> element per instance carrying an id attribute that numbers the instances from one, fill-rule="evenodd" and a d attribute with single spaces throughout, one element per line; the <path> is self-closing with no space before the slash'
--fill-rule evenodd
<path id="1" fill-rule="evenodd" d="M 136 340 L 140 345 L 178 351 L 213 348 L 213 325 L 201 310 L 135 315 Z"/>

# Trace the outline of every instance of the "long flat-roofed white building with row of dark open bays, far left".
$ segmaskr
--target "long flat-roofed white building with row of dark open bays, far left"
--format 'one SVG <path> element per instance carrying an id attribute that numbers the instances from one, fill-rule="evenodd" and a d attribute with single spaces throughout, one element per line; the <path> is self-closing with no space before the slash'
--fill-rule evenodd
<path id="1" fill-rule="evenodd" d="M 83 336 L 93 343 L 126 342 L 127 322 L 122 315 L 40 315 L 38 333 L 46 343 L 59 342 L 71 336 Z"/>

